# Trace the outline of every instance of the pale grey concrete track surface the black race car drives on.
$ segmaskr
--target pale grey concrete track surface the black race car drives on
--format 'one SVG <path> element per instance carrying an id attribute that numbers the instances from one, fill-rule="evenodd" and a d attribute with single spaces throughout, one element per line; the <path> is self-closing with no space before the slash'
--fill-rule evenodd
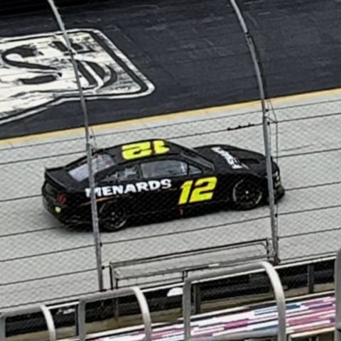
<path id="1" fill-rule="evenodd" d="M 333 253 L 341 245 L 341 91 L 274 99 L 278 120 L 271 140 L 287 195 L 278 205 L 282 261 Z M 274 116 L 273 113 L 271 115 Z M 248 126 L 227 130 L 238 126 Z M 235 144 L 264 151 L 259 103 L 202 109 L 94 130 L 97 146 L 160 136 L 186 146 Z M 0 145 L 0 309 L 58 301 L 97 290 L 92 233 L 67 229 L 42 207 L 44 167 L 63 165 L 84 154 L 82 129 L 4 140 Z M 102 234 L 104 266 L 271 237 L 269 208 L 224 211 L 185 220 L 130 227 Z M 264 255 L 264 249 L 219 251 L 178 259 L 200 264 Z M 171 269 L 175 261 L 150 264 Z M 144 266 L 148 269 L 148 265 Z M 141 271 L 138 266 L 134 271 Z M 107 269 L 105 286 L 109 286 Z"/>

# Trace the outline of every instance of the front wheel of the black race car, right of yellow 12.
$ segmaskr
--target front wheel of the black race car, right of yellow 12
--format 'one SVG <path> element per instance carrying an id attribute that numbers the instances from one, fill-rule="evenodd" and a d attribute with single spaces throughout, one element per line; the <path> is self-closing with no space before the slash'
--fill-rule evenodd
<path id="1" fill-rule="evenodd" d="M 233 207 L 237 210 L 252 210 L 259 206 L 263 198 L 264 193 L 257 179 L 244 178 L 232 188 Z"/>

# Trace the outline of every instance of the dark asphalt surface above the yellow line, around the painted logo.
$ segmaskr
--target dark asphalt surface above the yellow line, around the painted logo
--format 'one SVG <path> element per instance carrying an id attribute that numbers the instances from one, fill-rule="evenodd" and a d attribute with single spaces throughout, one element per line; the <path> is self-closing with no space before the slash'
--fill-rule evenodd
<path id="1" fill-rule="evenodd" d="M 90 121 L 121 121 L 258 97 L 247 46 L 227 2 L 131 0 L 63 9 L 67 28 L 100 29 L 156 87 L 138 99 L 90 101 Z M 269 97 L 340 87 L 340 2 L 239 2 L 259 49 Z M 0 23 L 2 37 L 55 30 L 50 12 L 3 17 Z M 0 138 L 80 126 L 79 107 L 77 102 L 60 104 L 0 125 Z"/>

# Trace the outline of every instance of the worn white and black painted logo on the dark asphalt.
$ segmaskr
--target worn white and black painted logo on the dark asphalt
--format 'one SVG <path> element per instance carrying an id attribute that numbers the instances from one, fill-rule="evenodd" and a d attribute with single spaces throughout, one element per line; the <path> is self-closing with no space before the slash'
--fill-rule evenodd
<path id="1" fill-rule="evenodd" d="M 146 96 L 153 84 L 101 31 L 68 31 L 86 99 Z M 79 100 L 60 32 L 0 38 L 0 124 Z"/>

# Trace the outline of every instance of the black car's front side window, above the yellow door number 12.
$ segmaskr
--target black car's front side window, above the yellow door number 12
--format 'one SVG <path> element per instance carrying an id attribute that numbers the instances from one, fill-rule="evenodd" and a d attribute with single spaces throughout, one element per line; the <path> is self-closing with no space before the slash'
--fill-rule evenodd
<path id="1" fill-rule="evenodd" d="M 188 164 L 178 160 L 159 160 L 141 163 L 144 178 L 163 178 L 187 175 Z"/>

